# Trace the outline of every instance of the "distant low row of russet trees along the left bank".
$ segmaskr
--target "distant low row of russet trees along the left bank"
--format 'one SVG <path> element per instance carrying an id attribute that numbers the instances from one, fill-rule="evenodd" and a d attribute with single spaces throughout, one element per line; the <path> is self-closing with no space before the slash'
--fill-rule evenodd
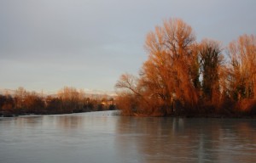
<path id="1" fill-rule="evenodd" d="M 14 95 L 0 95 L 0 116 L 28 114 L 67 114 L 86 111 L 115 110 L 113 98 L 86 98 L 83 90 L 64 87 L 54 96 L 27 92 L 23 87 Z"/>

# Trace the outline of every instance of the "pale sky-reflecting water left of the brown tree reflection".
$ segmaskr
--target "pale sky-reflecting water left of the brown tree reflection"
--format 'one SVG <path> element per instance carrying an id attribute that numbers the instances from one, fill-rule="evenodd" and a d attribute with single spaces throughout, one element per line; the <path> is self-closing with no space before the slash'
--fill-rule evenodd
<path id="1" fill-rule="evenodd" d="M 102 113 L 0 118 L 0 162 L 120 162 L 115 119 Z"/>

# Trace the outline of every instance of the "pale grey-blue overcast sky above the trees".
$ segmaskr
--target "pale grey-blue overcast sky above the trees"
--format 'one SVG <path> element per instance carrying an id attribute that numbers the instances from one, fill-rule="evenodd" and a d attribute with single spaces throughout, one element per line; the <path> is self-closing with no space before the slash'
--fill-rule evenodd
<path id="1" fill-rule="evenodd" d="M 170 18 L 225 47 L 256 34 L 256 1 L 0 0 L 0 88 L 112 92 L 121 74 L 138 74 L 147 33 Z"/>

